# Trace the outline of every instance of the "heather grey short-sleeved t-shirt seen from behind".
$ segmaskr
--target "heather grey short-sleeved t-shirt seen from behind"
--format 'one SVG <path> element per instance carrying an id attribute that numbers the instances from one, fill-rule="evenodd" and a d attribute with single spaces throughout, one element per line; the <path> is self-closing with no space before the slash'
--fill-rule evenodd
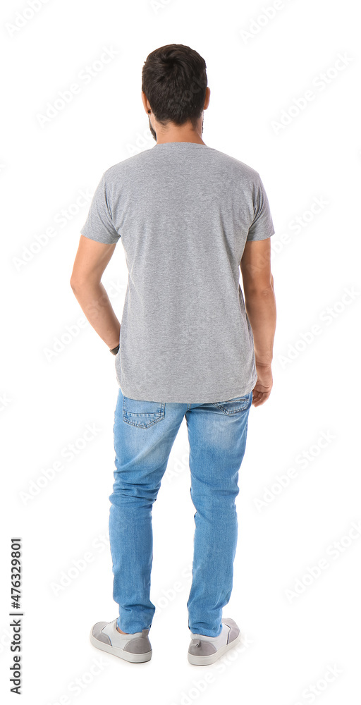
<path id="1" fill-rule="evenodd" d="M 202 404 L 254 388 L 239 266 L 246 240 L 274 234 L 255 169 L 207 145 L 154 145 L 104 171 L 81 233 L 126 252 L 124 396 Z"/>

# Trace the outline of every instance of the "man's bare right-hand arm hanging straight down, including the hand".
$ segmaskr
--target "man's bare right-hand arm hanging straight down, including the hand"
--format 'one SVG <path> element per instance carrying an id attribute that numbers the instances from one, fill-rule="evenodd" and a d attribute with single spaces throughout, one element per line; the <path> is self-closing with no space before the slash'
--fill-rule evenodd
<path id="1" fill-rule="evenodd" d="M 263 404 L 271 393 L 274 332 L 276 329 L 276 300 L 274 278 L 271 274 L 271 241 L 249 240 L 240 262 L 243 278 L 245 309 L 252 326 L 255 342 L 257 383 L 252 404 Z"/>

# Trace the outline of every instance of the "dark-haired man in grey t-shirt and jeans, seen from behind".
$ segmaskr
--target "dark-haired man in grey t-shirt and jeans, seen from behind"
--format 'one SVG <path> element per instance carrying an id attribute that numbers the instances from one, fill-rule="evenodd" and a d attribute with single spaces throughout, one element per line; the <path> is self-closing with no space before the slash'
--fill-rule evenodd
<path id="1" fill-rule="evenodd" d="M 209 94 L 197 51 L 169 44 L 149 54 L 142 102 L 156 145 L 103 173 L 71 276 L 80 307 L 116 355 L 119 385 L 109 496 L 119 615 L 95 624 L 90 640 L 138 663 L 152 656 L 152 504 L 184 416 L 196 508 L 188 661 L 214 663 L 240 639 L 235 621 L 222 618 L 238 470 L 250 407 L 272 387 L 269 202 L 257 171 L 204 144 Z M 120 239 L 128 266 L 121 324 L 101 283 Z"/>

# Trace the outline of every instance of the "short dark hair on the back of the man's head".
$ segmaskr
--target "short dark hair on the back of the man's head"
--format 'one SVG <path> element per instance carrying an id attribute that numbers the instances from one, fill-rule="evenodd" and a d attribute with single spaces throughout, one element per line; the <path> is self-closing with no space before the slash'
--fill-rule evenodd
<path id="1" fill-rule="evenodd" d="M 156 120 L 195 128 L 207 88 L 206 62 L 184 44 L 166 44 L 147 56 L 142 68 L 142 91 Z"/>

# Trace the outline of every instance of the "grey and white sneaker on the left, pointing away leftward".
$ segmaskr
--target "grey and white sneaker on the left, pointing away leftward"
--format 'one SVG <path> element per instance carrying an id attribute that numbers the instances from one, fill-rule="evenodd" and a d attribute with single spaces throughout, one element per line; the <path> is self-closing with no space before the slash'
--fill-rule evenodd
<path id="1" fill-rule="evenodd" d="M 90 630 L 90 642 L 93 646 L 132 663 L 149 661 L 152 658 L 152 646 L 148 638 L 149 629 L 143 629 L 142 632 L 135 634 L 121 634 L 116 628 L 117 619 L 116 617 L 112 622 L 94 624 Z"/>

